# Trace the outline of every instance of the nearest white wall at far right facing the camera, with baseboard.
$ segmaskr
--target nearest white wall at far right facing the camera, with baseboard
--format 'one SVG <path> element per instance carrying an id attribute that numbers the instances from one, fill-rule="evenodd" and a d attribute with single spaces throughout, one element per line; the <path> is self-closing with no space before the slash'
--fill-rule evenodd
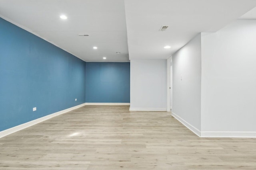
<path id="1" fill-rule="evenodd" d="M 256 20 L 202 33 L 202 136 L 256 137 Z"/>

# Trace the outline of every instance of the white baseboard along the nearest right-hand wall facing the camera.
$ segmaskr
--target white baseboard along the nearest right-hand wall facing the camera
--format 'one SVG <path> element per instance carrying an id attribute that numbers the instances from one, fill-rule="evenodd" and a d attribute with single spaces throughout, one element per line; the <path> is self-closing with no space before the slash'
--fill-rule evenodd
<path id="1" fill-rule="evenodd" d="M 244 138 L 256 138 L 256 132 L 201 131 L 201 137 L 244 137 Z"/>

